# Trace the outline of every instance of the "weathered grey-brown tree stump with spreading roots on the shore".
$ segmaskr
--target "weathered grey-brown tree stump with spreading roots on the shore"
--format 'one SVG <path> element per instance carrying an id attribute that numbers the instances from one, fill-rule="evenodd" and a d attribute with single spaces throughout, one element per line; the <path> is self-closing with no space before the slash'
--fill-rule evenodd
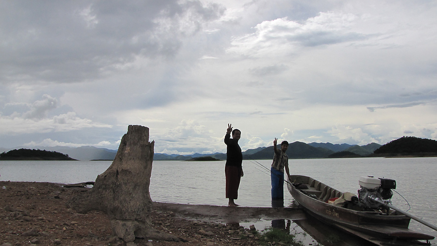
<path id="1" fill-rule="evenodd" d="M 153 148 L 149 128 L 129 125 L 111 166 L 97 176 L 93 188 L 72 198 L 67 206 L 78 213 L 107 213 L 113 231 L 125 242 L 133 242 L 135 237 L 184 241 L 151 226 Z"/>

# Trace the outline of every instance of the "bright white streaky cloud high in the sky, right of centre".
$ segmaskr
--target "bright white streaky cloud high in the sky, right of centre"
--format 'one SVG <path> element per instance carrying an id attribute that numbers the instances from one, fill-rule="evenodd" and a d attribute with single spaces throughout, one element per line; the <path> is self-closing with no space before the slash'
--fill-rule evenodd
<path id="1" fill-rule="evenodd" d="M 254 33 L 235 37 L 228 52 L 265 57 L 297 52 L 302 47 L 365 40 L 368 34 L 352 29 L 357 18 L 353 14 L 328 12 L 319 13 L 303 24 L 287 17 L 263 21 L 254 27 Z"/>

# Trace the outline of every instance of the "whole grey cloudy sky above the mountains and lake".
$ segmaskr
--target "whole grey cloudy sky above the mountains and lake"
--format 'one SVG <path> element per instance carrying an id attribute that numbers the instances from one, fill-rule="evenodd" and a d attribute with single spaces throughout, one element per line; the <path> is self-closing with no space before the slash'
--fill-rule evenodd
<path id="1" fill-rule="evenodd" d="M 437 2 L 0 1 L 0 147 L 437 139 Z"/>

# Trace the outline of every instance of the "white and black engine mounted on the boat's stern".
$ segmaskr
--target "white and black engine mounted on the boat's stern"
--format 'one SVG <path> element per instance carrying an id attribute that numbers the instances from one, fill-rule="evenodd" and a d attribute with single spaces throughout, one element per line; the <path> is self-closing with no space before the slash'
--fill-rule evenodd
<path id="1" fill-rule="evenodd" d="M 358 190 L 359 200 L 368 208 L 379 209 L 382 205 L 373 199 L 390 203 L 393 196 L 391 189 L 396 189 L 396 181 L 385 178 L 373 178 L 373 176 L 360 177 L 358 180 L 361 189 Z"/>

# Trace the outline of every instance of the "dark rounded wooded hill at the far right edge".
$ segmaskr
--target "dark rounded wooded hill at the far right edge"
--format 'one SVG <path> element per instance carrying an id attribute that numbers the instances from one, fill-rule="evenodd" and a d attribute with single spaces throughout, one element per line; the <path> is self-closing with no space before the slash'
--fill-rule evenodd
<path id="1" fill-rule="evenodd" d="M 376 155 L 437 155 L 437 141 L 418 137 L 401 137 L 374 151 Z"/>

